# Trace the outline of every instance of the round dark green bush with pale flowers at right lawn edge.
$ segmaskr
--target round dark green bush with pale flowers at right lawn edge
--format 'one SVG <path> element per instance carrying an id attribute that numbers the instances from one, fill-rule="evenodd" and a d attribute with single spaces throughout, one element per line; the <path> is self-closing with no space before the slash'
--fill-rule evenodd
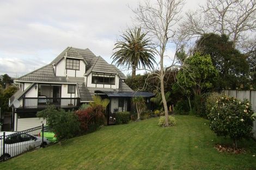
<path id="1" fill-rule="evenodd" d="M 252 114 L 252 106 L 247 99 L 241 101 L 234 97 L 216 96 L 208 115 L 210 128 L 217 135 L 230 136 L 237 148 L 237 140 L 251 135 Z"/>

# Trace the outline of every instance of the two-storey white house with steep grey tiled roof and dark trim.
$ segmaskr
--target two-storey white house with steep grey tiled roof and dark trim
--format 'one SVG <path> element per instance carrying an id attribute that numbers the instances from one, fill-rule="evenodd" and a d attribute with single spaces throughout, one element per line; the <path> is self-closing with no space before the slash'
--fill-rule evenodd
<path id="1" fill-rule="evenodd" d="M 114 112 L 130 111 L 131 97 L 144 96 L 149 101 L 153 96 L 134 92 L 124 83 L 125 78 L 117 67 L 88 48 L 68 47 L 50 64 L 14 80 L 20 90 L 9 103 L 13 129 L 20 131 L 47 123 L 36 117 L 36 112 L 49 105 L 76 110 L 82 103 L 93 102 L 92 96 L 101 95 L 110 99 L 107 113 L 108 118 L 113 118 Z"/>

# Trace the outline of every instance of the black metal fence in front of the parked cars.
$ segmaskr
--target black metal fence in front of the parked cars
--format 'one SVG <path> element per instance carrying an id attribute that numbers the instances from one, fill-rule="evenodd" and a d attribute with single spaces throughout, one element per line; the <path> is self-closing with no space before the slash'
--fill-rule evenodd
<path id="1" fill-rule="evenodd" d="M 5 161 L 35 148 L 44 147 L 56 140 L 54 133 L 49 132 L 44 124 L 19 132 L 0 133 L 0 161 Z"/>

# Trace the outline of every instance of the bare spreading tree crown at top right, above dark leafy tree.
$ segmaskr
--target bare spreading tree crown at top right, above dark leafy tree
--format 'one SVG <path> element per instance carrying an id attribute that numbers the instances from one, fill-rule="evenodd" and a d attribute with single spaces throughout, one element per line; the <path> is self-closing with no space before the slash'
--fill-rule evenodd
<path id="1" fill-rule="evenodd" d="M 226 34 L 236 46 L 256 30 L 256 0 L 206 0 L 198 11 L 187 12 L 186 16 L 182 34 Z"/>

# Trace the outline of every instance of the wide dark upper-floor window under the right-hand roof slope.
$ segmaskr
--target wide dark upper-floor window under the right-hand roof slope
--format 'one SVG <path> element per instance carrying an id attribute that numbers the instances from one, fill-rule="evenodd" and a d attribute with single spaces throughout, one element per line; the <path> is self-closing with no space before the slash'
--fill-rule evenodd
<path id="1" fill-rule="evenodd" d="M 111 84 L 115 85 L 115 75 L 111 74 L 93 74 L 93 84 Z"/>

